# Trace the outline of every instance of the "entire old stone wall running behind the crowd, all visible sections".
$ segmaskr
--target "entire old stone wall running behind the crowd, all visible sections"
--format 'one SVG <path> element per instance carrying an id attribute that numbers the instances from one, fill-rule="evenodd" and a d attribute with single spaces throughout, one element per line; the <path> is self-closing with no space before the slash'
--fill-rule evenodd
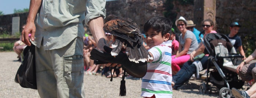
<path id="1" fill-rule="evenodd" d="M 166 0 L 116 0 L 106 3 L 107 15 L 133 19 L 141 30 L 143 24 L 153 16 L 163 15 L 164 2 Z M 177 12 L 177 18 L 184 16 L 188 20 L 193 20 L 197 24 L 197 29 L 202 30 L 204 0 L 194 0 L 194 5 L 181 5 L 174 0 L 173 10 Z M 20 24 L 26 23 L 27 13 L 11 14 L 0 16 L 0 33 L 2 31 L 11 32 L 13 16 L 20 16 Z M 176 19 L 177 19 L 176 18 Z M 229 24 L 239 22 L 241 37 L 249 35 L 256 37 L 256 2 L 255 0 L 216 0 L 216 24 L 222 33 L 229 33 Z"/>

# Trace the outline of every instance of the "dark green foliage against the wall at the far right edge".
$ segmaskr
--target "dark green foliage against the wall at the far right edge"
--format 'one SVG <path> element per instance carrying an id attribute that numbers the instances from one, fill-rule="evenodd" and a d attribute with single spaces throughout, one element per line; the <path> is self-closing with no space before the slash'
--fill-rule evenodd
<path id="1" fill-rule="evenodd" d="M 246 35 L 244 39 L 246 40 L 242 42 L 244 46 L 243 49 L 244 49 L 245 56 L 248 57 L 256 49 L 255 39 L 250 35 Z"/>

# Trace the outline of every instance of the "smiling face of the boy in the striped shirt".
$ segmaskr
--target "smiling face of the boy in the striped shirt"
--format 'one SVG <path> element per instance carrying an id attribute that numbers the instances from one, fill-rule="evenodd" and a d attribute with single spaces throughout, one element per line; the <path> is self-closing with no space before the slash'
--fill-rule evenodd
<path id="1" fill-rule="evenodd" d="M 153 46 L 157 46 L 162 44 L 164 41 L 168 41 L 170 34 L 167 33 L 162 37 L 162 33 L 157 33 L 156 30 L 153 30 L 152 28 L 148 30 L 148 32 L 145 33 L 146 38 L 145 42 L 146 45 L 149 46 L 149 48 L 152 48 Z"/>

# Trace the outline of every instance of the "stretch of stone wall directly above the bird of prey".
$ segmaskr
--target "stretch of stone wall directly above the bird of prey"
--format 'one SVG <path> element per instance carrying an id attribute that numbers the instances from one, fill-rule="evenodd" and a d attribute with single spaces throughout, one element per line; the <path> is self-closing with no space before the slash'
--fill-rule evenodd
<path id="1" fill-rule="evenodd" d="M 144 23 L 153 16 L 163 15 L 165 0 L 117 0 L 106 3 L 107 15 L 114 14 L 134 20 L 143 30 Z"/>

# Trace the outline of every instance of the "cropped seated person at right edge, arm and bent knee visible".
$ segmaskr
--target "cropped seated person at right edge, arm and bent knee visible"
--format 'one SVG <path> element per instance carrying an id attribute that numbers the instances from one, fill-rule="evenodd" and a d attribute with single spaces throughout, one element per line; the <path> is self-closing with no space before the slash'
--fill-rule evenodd
<path id="1" fill-rule="evenodd" d="M 240 78 L 249 84 L 256 82 L 256 61 L 252 61 L 256 57 L 256 49 L 237 67 L 237 73 Z"/>

